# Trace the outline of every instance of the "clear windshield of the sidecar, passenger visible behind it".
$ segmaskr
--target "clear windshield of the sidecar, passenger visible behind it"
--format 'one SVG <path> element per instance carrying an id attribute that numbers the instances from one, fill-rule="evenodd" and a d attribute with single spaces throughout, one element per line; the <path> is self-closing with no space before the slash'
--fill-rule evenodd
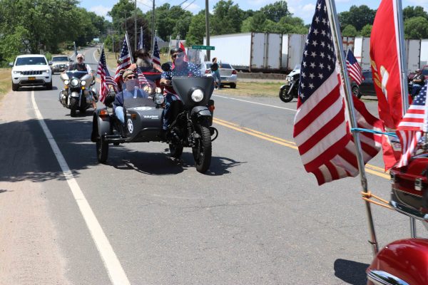
<path id="1" fill-rule="evenodd" d="M 126 80 L 122 85 L 122 92 L 116 96 L 122 96 L 123 105 L 127 109 L 137 109 L 143 107 L 154 107 L 153 95 L 156 91 L 156 84 L 146 78 L 134 78 Z"/>

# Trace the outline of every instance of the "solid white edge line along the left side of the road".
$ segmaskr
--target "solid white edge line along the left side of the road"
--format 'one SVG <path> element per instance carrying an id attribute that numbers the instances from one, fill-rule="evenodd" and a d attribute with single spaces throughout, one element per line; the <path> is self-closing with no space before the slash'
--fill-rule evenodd
<path id="1" fill-rule="evenodd" d="M 37 107 L 36 100 L 34 99 L 34 90 L 31 91 L 31 101 L 33 102 L 34 113 L 36 113 L 36 118 L 39 120 L 41 128 L 43 129 L 46 138 L 49 141 L 49 144 L 54 151 L 54 155 L 56 156 L 56 160 L 63 171 L 64 177 L 66 177 L 68 187 L 70 187 L 71 192 L 73 193 L 73 197 L 78 205 L 78 208 L 81 211 L 83 219 L 86 222 L 86 226 L 91 233 L 93 242 L 95 242 L 98 252 L 101 255 L 101 259 L 103 260 L 104 266 L 107 269 L 108 277 L 113 285 L 131 285 L 128 280 L 128 277 L 123 271 L 121 266 L 121 262 L 118 260 L 118 257 L 113 251 L 110 242 L 104 234 L 101 225 L 98 223 L 98 219 L 96 219 L 95 214 L 93 213 L 91 206 L 83 195 L 81 188 L 78 186 L 76 179 L 73 176 L 70 168 L 67 165 L 65 158 L 63 157 L 61 150 L 59 150 L 54 137 L 51 134 L 48 126 L 44 122 L 44 118 L 42 117 L 39 108 Z"/>

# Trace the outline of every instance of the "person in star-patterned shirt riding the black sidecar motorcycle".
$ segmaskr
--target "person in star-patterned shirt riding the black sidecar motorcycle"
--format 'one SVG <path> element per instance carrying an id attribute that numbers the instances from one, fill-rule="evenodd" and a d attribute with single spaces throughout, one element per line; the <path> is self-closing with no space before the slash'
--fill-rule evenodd
<path id="1" fill-rule="evenodd" d="M 172 66 L 170 71 L 163 71 L 161 76 L 161 84 L 169 86 L 171 80 L 178 77 L 198 77 L 202 76 L 198 66 L 194 63 L 185 61 L 185 52 L 181 48 L 171 48 L 170 56 L 172 59 Z M 172 87 L 164 89 L 165 95 L 165 109 L 163 109 L 163 130 L 168 129 L 170 125 L 170 105 L 175 100 L 180 100 L 177 93 Z"/>

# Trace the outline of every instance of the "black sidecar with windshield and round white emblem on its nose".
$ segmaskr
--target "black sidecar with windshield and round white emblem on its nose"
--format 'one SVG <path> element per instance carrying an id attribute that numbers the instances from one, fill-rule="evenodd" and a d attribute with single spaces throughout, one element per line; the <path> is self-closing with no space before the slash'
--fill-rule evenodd
<path id="1" fill-rule="evenodd" d="M 91 141 L 96 142 L 97 159 L 101 163 L 106 162 L 108 145 L 111 143 L 119 145 L 125 142 L 163 140 L 164 98 L 161 93 L 156 93 L 155 88 L 152 90 L 136 82 L 131 92 L 123 88 L 123 92 L 117 93 L 117 96 L 123 98 L 124 124 L 118 120 L 113 108 L 96 109 L 93 113 Z"/>

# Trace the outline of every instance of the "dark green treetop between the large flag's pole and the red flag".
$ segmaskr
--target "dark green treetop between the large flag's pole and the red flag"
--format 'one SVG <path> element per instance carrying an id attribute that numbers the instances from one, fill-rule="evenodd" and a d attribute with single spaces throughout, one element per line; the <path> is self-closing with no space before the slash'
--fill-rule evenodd
<path id="1" fill-rule="evenodd" d="M 345 28 L 347 25 L 352 25 L 357 31 L 361 31 L 363 26 L 373 24 L 375 15 L 376 11 L 366 5 L 352 5 L 350 11 L 339 13 L 337 16 L 341 27 Z"/>

